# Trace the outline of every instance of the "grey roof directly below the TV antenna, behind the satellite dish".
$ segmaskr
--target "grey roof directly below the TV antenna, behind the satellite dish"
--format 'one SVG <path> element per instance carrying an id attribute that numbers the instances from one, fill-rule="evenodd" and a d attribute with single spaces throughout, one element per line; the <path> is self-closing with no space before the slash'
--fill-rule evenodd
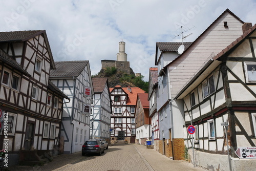
<path id="1" fill-rule="evenodd" d="M 183 42 L 185 50 L 192 44 L 193 42 Z M 157 42 L 157 47 L 161 51 L 178 51 L 179 47 L 182 45 L 182 42 Z"/>

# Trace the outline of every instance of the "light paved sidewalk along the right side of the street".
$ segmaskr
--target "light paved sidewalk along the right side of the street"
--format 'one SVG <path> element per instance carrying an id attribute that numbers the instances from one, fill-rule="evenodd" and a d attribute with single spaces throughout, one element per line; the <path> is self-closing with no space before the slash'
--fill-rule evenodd
<path id="1" fill-rule="evenodd" d="M 138 153 L 145 158 L 146 162 L 151 166 L 155 171 L 166 171 L 166 170 L 204 170 L 200 167 L 194 167 L 192 163 L 181 160 L 172 160 L 154 149 L 147 149 L 144 145 L 134 144 L 134 147 L 137 149 Z"/>

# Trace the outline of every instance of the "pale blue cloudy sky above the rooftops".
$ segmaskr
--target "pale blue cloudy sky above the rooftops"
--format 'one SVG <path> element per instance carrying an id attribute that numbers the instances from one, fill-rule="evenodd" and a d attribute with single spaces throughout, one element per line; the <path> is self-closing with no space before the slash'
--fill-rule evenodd
<path id="1" fill-rule="evenodd" d="M 11 0 L 1 1 L 0 31 L 46 30 L 54 61 L 116 60 L 119 41 L 127 61 L 148 80 L 156 42 L 194 41 L 226 9 L 256 23 L 256 0 Z"/>

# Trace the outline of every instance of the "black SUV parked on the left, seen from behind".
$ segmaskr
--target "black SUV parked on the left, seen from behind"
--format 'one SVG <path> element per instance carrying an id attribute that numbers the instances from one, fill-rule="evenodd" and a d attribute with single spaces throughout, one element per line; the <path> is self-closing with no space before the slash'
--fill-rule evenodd
<path id="1" fill-rule="evenodd" d="M 97 153 L 99 156 L 104 153 L 104 143 L 100 139 L 89 139 L 82 145 L 82 155 L 86 153 Z"/>

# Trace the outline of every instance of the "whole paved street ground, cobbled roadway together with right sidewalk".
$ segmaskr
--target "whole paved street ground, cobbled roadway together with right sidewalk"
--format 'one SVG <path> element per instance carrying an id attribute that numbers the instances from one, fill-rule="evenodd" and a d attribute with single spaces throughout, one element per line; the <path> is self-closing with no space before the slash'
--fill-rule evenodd
<path id="1" fill-rule="evenodd" d="M 147 149 L 143 145 L 114 144 L 101 156 L 86 155 L 80 152 L 71 155 L 55 156 L 52 162 L 44 166 L 12 166 L 10 170 L 90 170 L 90 171 L 167 171 L 167 170 L 203 170 L 191 163 L 173 161 L 166 156 Z"/>

